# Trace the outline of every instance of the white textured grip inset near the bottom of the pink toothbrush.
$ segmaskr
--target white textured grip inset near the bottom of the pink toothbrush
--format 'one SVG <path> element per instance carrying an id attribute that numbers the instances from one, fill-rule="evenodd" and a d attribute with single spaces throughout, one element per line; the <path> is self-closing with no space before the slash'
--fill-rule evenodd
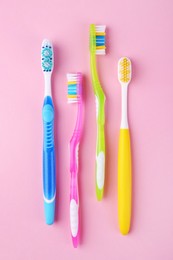
<path id="1" fill-rule="evenodd" d="M 70 201 L 70 227 L 73 237 L 77 236 L 79 228 L 79 216 L 78 216 L 79 206 L 74 199 Z"/>

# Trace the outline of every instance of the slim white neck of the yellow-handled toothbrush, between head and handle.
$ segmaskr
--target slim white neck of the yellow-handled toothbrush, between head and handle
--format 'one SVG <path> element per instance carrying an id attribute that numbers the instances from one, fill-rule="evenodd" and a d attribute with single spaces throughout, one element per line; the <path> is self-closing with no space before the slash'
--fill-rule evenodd
<path id="1" fill-rule="evenodd" d="M 121 128 L 128 129 L 128 115 L 127 115 L 127 93 L 128 85 L 123 85 L 121 87 L 122 103 L 121 103 Z"/>

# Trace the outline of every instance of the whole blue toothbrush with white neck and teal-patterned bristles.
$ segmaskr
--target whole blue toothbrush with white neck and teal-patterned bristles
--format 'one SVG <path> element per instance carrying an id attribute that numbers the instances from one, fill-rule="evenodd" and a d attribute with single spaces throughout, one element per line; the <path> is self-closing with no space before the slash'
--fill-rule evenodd
<path id="1" fill-rule="evenodd" d="M 41 66 L 45 80 L 45 94 L 42 109 L 43 118 L 43 196 L 44 212 L 48 225 L 53 224 L 55 216 L 56 171 L 54 145 L 54 105 L 51 93 L 51 75 L 53 71 L 53 47 L 44 40 L 41 47 Z"/>

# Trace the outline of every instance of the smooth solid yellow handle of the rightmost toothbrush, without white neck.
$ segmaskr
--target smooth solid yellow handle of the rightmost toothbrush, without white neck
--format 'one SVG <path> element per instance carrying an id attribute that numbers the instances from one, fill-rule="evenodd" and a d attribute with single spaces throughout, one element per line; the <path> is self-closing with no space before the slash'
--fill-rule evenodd
<path id="1" fill-rule="evenodd" d="M 120 232 L 126 235 L 131 220 L 131 149 L 129 129 L 120 129 L 118 148 L 118 222 Z"/>

